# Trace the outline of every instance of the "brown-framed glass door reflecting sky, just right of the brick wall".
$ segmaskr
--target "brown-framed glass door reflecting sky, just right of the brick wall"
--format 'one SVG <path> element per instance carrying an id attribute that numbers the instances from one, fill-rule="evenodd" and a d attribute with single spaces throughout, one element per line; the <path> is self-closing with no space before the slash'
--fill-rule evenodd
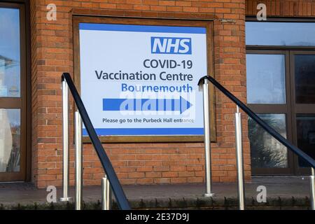
<path id="1" fill-rule="evenodd" d="M 283 137 L 291 139 L 289 54 L 247 50 L 247 104 Z M 293 153 L 248 118 L 253 175 L 293 174 Z"/>

